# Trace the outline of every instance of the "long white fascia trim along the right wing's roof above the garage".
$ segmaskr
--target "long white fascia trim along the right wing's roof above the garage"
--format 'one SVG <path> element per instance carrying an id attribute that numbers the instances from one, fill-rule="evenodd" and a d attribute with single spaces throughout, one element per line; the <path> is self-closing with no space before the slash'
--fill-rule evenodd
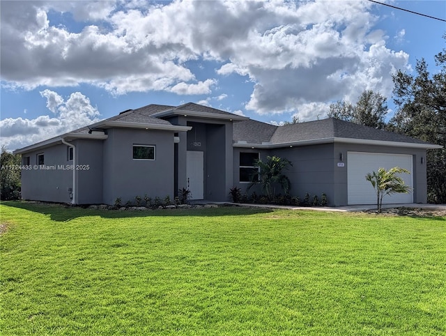
<path id="1" fill-rule="evenodd" d="M 323 138 L 323 139 L 312 139 L 312 140 L 302 140 L 298 142 L 282 142 L 279 144 L 247 144 L 246 142 L 236 142 L 233 147 L 239 148 L 283 148 L 283 147 L 299 147 L 299 146 L 309 146 L 316 144 L 363 144 L 363 145 L 374 145 L 374 146 L 387 146 L 387 147 L 403 147 L 403 148 L 422 148 L 422 149 L 439 149 L 443 146 L 435 144 L 413 144 L 410 142 L 389 142 L 383 140 L 367 140 L 367 139 L 351 139 L 351 138 Z"/>

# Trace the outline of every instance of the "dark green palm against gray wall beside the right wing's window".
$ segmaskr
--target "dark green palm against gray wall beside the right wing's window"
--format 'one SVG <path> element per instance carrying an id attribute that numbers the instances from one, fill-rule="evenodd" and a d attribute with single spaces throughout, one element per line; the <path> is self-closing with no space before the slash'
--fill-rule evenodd
<path id="1" fill-rule="evenodd" d="M 256 160 L 254 167 L 258 167 L 259 170 L 254 171 L 254 174 L 252 174 L 252 183 L 249 185 L 248 190 L 253 185 L 260 184 L 263 192 L 265 192 L 266 197 L 270 201 L 275 200 L 277 186 L 280 186 L 285 194 L 288 193 L 291 188 L 291 183 L 283 171 L 289 166 L 292 166 L 289 160 L 279 158 L 278 156 L 268 156 L 265 162 Z"/>

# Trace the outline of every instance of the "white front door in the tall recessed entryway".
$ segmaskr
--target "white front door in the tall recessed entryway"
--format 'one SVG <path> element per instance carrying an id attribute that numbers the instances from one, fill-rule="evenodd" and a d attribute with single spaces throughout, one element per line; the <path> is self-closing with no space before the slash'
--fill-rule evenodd
<path id="1" fill-rule="evenodd" d="M 191 199 L 204 198 L 204 160 L 203 152 L 187 151 L 186 153 L 187 189 Z"/>

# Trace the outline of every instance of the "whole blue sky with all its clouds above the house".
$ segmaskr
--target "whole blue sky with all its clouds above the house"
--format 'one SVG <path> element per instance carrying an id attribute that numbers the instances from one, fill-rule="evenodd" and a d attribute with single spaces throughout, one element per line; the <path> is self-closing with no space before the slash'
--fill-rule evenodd
<path id="1" fill-rule="evenodd" d="M 382 1 L 446 19 L 446 1 Z M 0 1 L 0 141 L 21 148 L 151 103 L 323 119 L 445 48 L 446 22 L 371 1 Z M 391 116 L 390 111 L 389 116 Z"/>

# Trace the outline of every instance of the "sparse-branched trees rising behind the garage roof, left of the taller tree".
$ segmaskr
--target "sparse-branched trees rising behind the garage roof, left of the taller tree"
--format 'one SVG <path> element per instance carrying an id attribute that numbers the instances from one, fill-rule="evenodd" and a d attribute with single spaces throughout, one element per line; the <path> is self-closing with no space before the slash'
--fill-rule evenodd
<path id="1" fill-rule="evenodd" d="M 363 91 L 356 105 L 346 100 L 338 100 L 330 105 L 328 112 L 329 117 L 378 129 L 385 128 L 386 114 L 387 99 L 371 90 Z"/>

